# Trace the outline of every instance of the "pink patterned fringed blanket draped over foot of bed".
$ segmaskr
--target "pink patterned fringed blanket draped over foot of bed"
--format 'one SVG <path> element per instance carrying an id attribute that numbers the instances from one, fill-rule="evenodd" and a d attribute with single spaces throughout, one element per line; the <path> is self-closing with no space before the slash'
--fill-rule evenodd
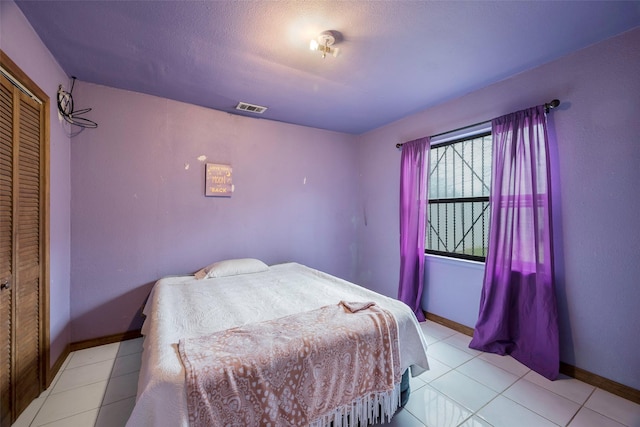
<path id="1" fill-rule="evenodd" d="M 190 426 L 357 425 L 399 403 L 398 329 L 374 303 L 185 339 L 179 351 Z"/>

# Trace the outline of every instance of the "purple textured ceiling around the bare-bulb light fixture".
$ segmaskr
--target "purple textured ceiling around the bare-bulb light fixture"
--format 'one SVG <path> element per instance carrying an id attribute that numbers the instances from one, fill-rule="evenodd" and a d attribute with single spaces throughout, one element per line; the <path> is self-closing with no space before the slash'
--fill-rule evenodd
<path id="1" fill-rule="evenodd" d="M 640 1 L 16 3 L 82 81 L 352 134 L 640 25 Z"/>

